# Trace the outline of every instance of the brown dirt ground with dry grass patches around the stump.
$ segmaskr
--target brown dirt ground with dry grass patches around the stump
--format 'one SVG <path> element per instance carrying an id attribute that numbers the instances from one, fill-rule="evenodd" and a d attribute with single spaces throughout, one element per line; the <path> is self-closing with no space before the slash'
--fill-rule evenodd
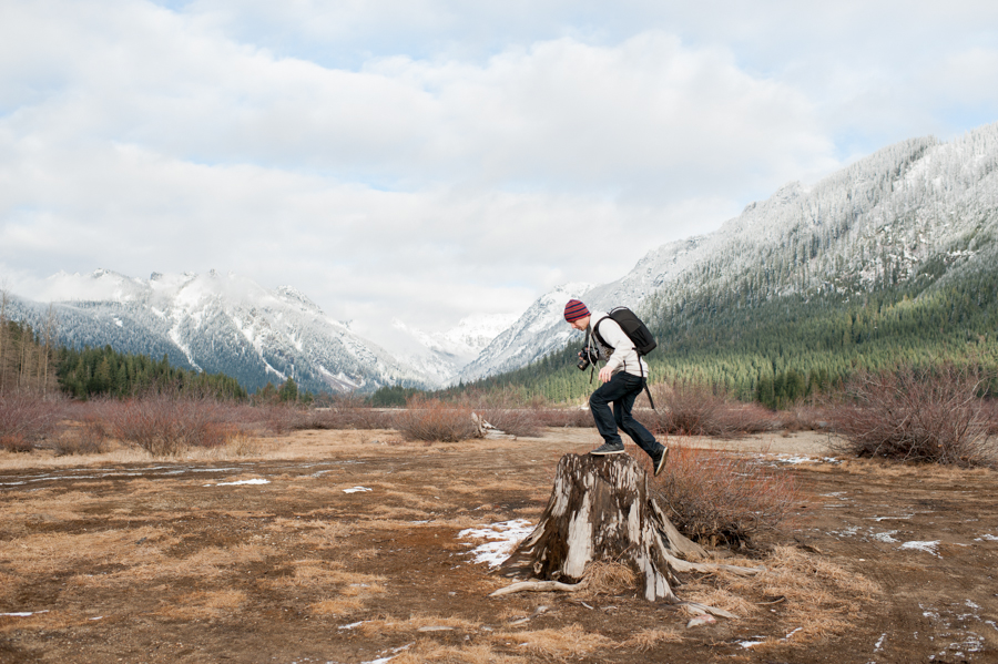
<path id="1" fill-rule="evenodd" d="M 488 597 L 508 581 L 461 531 L 536 522 L 558 459 L 595 438 L 0 454 L 0 662 L 998 662 L 998 473 L 827 460 L 814 433 L 690 441 L 797 481 L 792 532 L 729 586 L 743 617 L 688 627 L 634 591 Z M 806 592 L 774 590 L 791 552 Z"/>

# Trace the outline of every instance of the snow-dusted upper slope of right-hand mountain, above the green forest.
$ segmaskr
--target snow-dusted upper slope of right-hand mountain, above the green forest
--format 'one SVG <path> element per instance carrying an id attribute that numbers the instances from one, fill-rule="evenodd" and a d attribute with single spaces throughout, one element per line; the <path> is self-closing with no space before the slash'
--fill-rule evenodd
<path id="1" fill-rule="evenodd" d="M 541 296 L 461 371 L 465 381 L 525 366 L 574 339 L 570 297 L 629 306 L 650 323 L 704 294 L 746 304 L 863 293 L 919 277 L 936 286 L 998 269 L 998 123 L 949 143 L 886 147 L 814 186 L 791 183 L 717 231 L 649 252 L 622 278 Z"/>

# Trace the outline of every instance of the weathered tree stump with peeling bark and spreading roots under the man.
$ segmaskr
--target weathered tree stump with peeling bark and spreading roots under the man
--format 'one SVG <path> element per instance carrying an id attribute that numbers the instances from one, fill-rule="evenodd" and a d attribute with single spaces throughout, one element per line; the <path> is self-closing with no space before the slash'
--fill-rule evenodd
<path id="1" fill-rule="evenodd" d="M 692 562 L 705 559 L 706 551 L 683 537 L 655 504 L 648 477 L 629 454 L 566 454 L 540 522 L 500 573 L 577 584 L 590 562 L 620 562 L 639 574 L 646 600 L 679 603 L 672 591 L 679 582 L 675 572 L 756 571 Z"/>

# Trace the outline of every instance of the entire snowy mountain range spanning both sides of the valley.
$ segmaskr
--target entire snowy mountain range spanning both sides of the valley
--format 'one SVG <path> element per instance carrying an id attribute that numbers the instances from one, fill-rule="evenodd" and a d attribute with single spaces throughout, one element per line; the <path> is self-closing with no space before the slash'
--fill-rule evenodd
<path id="1" fill-rule="evenodd" d="M 268 290 L 234 275 L 60 273 L 55 302 L 65 344 L 104 345 L 179 366 L 223 371 L 248 389 L 293 376 L 310 390 L 439 387 L 522 367 L 581 343 L 564 303 L 624 305 L 650 324 L 684 303 L 737 294 L 737 306 L 784 295 L 849 295 L 907 279 L 943 287 L 998 269 L 998 123 L 955 141 L 915 139 L 884 149 L 813 186 L 791 183 L 707 235 L 649 252 L 610 284 L 569 284 L 516 321 L 470 317 L 442 334 L 404 323 L 391 353 L 325 316 L 291 287 Z M 43 325 L 48 305 L 10 311 Z M 395 343 L 397 341 L 397 343 Z"/>

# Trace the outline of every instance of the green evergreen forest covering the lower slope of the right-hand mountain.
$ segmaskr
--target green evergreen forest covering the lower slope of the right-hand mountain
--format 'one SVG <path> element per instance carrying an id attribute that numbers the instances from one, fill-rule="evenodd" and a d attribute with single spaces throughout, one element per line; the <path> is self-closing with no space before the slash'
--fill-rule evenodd
<path id="1" fill-rule="evenodd" d="M 868 295 L 750 297 L 705 292 L 672 304 L 652 300 L 642 311 L 659 340 L 648 358 L 651 381 L 706 384 L 783 407 L 828 392 L 859 369 L 998 367 L 998 272 Z M 590 384 L 589 370 L 576 368 L 581 345 L 580 336 L 527 367 L 442 394 L 519 387 L 553 401 L 582 399 L 598 379 Z M 998 396 L 995 380 L 986 389 Z"/>

